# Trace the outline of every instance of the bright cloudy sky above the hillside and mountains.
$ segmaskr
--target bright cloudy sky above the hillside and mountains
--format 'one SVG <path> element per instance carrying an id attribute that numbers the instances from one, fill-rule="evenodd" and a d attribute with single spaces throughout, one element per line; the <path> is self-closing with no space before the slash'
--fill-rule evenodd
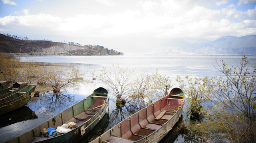
<path id="1" fill-rule="evenodd" d="M 153 54 L 171 39 L 256 34 L 256 0 L 0 0 L 0 33 Z"/>

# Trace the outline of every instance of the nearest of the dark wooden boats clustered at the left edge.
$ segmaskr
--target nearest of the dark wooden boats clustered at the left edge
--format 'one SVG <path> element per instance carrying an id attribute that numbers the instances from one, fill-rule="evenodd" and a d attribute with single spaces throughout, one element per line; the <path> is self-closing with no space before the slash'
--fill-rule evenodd
<path id="1" fill-rule="evenodd" d="M 27 104 L 31 97 L 34 97 L 35 88 L 36 85 L 28 85 L 22 90 L 17 91 L 14 94 L 3 99 L 6 102 L 0 104 L 0 115 L 18 109 Z"/>

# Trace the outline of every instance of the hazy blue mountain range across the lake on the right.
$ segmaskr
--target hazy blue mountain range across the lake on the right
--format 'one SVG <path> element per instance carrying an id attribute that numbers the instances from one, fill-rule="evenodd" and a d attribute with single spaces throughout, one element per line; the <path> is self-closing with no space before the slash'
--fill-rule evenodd
<path id="1" fill-rule="evenodd" d="M 183 37 L 168 42 L 167 54 L 256 55 L 256 35 L 223 36 L 214 41 Z"/>

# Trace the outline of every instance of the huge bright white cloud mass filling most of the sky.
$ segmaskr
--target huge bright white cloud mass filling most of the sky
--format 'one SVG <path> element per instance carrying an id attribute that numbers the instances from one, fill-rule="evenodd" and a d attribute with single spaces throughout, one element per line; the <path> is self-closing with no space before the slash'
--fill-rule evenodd
<path id="1" fill-rule="evenodd" d="M 152 45 L 159 46 L 161 40 L 185 36 L 213 40 L 224 35 L 256 34 L 256 20 L 246 20 L 248 16 L 255 17 L 255 8 L 242 12 L 231 4 L 221 10 L 213 10 L 189 0 L 143 0 L 125 9 L 111 5 L 113 1 L 105 2 L 112 6 L 111 12 L 81 12 L 65 17 L 56 13 L 32 15 L 29 9 L 24 9 L 25 15 L 0 17 L 0 26 L 19 33 L 29 31 L 38 35 L 54 33 L 82 37 L 81 44 L 103 43 L 114 49 L 120 45 L 143 47 L 146 44 L 151 48 Z M 224 2 L 220 0 L 218 3 Z M 108 4 L 98 5 L 105 8 Z M 160 41 L 158 44 L 157 40 Z"/>

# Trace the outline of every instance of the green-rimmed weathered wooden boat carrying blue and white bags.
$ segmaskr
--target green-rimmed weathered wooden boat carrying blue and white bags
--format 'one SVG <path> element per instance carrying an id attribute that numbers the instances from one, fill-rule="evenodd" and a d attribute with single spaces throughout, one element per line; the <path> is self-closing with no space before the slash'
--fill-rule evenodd
<path id="1" fill-rule="evenodd" d="M 74 143 L 79 141 L 87 132 L 106 114 L 108 104 L 108 91 L 99 87 L 91 95 L 53 116 L 46 122 L 31 129 L 30 131 L 7 141 L 7 143 Z M 40 132 L 43 128 L 57 128 L 63 124 L 74 122 L 77 124 L 71 131 L 55 136 L 42 137 Z"/>

